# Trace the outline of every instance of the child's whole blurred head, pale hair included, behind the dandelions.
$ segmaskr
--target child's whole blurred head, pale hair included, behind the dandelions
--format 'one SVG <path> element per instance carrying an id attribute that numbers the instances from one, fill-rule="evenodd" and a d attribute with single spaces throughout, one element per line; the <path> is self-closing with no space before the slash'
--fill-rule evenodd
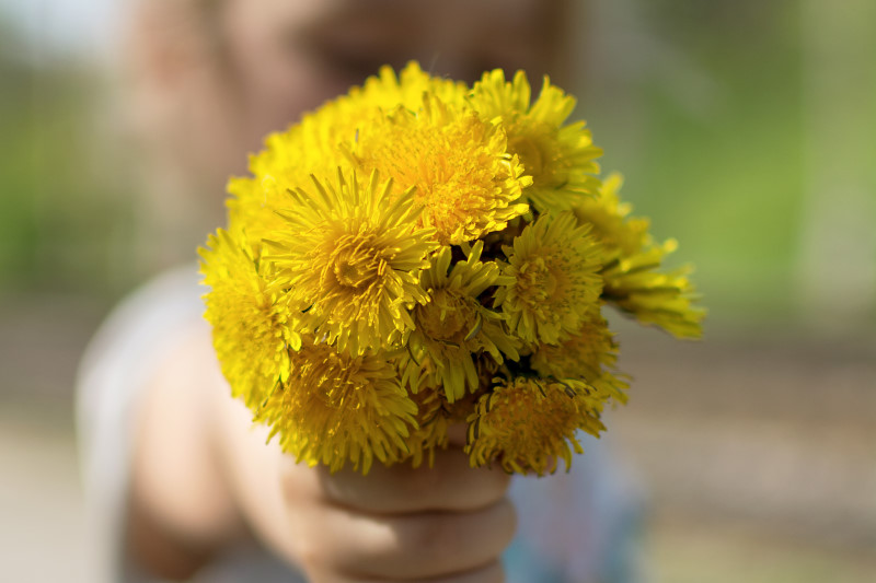
<path id="1" fill-rule="evenodd" d="M 135 22 L 142 54 L 153 57 L 141 69 L 155 89 L 142 93 L 145 103 L 171 112 L 155 123 L 142 117 L 145 137 L 158 144 L 154 175 L 182 180 L 187 198 L 162 206 L 162 188 L 151 194 L 162 213 L 194 211 L 207 224 L 220 220 L 228 176 L 245 173 L 247 152 L 266 133 L 381 65 L 397 70 L 416 59 L 469 82 L 495 67 L 539 79 L 552 72 L 562 40 L 562 0 L 212 0 L 200 10 L 195 1 L 142 0 L 164 9 L 151 13 L 154 22 Z"/>

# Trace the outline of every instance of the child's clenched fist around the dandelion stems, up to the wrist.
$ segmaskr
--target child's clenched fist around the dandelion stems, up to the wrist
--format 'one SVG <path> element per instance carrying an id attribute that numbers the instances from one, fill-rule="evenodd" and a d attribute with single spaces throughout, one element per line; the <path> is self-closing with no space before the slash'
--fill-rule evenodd
<path id="1" fill-rule="evenodd" d="M 287 457 L 283 550 L 314 582 L 499 582 L 515 528 L 508 479 L 471 469 L 459 447 L 440 452 L 434 468 L 374 466 L 365 477 Z"/>

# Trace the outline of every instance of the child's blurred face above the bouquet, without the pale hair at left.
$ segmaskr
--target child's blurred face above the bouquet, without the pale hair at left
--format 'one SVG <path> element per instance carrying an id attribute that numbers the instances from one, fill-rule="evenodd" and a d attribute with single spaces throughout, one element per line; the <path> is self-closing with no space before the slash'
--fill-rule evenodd
<path id="1" fill-rule="evenodd" d="M 240 160 L 303 110 L 384 63 L 473 81 L 488 68 L 544 71 L 554 0 L 227 0 L 220 26 L 242 116 Z"/>

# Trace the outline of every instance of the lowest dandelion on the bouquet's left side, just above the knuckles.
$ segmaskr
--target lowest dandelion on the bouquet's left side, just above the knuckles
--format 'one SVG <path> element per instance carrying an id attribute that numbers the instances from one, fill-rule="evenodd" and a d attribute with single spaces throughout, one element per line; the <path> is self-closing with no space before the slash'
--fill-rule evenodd
<path id="1" fill-rule="evenodd" d="M 284 452 L 332 471 L 349 462 L 362 474 L 374 458 L 389 465 L 407 455 L 417 406 L 392 363 L 374 354 L 342 354 L 312 337 L 290 357 L 288 383 L 255 416 L 270 427 L 270 438 L 279 436 Z"/>

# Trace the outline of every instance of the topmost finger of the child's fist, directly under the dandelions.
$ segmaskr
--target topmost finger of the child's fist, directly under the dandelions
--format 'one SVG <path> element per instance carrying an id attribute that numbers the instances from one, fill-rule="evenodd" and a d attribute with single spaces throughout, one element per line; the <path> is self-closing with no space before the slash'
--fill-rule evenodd
<path id="1" fill-rule="evenodd" d="M 296 471 L 296 468 L 288 469 Z M 502 499 L 510 480 L 497 469 L 469 467 L 468 456 L 452 447 L 436 453 L 434 467 L 376 465 L 367 476 L 351 470 L 333 475 L 324 467 L 310 471 L 315 474 L 316 481 L 308 478 L 309 495 L 376 514 L 482 509 Z M 290 485 L 300 495 L 298 481 L 292 480 Z"/>

